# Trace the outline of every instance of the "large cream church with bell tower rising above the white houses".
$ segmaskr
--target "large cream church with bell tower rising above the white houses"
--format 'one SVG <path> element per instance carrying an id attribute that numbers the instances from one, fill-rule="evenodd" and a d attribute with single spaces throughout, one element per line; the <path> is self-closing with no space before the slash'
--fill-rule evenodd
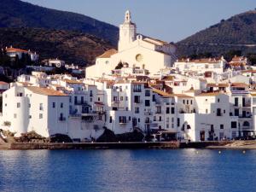
<path id="1" fill-rule="evenodd" d="M 147 69 L 149 74 L 172 67 L 176 60 L 176 47 L 155 38 L 137 33 L 131 21 L 131 12 L 125 12 L 125 21 L 119 26 L 118 50 L 109 49 L 96 58 L 96 64 L 86 68 L 85 76 L 102 77 L 112 73 L 117 66 Z"/>

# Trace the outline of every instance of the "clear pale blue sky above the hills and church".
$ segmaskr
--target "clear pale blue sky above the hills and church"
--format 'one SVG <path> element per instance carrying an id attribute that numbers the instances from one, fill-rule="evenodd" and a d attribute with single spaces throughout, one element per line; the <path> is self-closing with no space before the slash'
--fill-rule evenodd
<path id="1" fill-rule="evenodd" d="M 125 10 L 137 32 L 177 42 L 233 15 L 256 8 L 256 0 L 23 0 L 50 9 L 71 11 L 119 26 Z"/>

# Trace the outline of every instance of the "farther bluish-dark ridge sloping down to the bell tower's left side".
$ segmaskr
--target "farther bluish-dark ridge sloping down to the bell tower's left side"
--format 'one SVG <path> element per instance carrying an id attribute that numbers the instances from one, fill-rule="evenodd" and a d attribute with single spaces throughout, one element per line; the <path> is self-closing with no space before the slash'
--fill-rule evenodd
<path id="1" fill-rule="evenodd" d="M 46 9 L 20 0 L 0 0 L 0 27 L 79 31 L 117 44 L 118 27 L 85 15 Z"/>

